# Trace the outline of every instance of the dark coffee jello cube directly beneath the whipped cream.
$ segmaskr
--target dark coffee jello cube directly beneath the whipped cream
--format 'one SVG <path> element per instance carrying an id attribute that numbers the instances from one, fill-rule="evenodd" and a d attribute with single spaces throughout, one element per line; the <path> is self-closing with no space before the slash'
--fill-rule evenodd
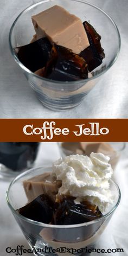
<path id="1" fill-rule="evenodd" d="M 74 199 L 75 197 L 68 196 L 60 200 L 54 212 L 53 224 L 75 225 L 85 222 L 88 223 L 103 216 L 95 204 L 86 201 L 81 204 L 75 204 Z M 98 232 L 103 222 L 104 220 L 101 219 L 93 223 L 93 225 L 86 225 L 85 228 L 81 226 L 77 227 L 77 232 L 75 228 L 54 228 L 54 239 L 63 242 L 78 242 L 89 239 Z"/>

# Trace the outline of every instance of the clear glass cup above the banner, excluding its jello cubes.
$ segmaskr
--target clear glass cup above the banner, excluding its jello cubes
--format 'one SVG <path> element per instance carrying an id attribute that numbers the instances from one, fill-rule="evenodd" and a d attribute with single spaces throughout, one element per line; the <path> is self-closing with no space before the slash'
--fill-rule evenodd
<path id="1" fill-rule="evenodd" d="M 56 4 L 81 18 L 82 22 L 89 21 L 101 35 L 101 47 L 104 49 L 105 59 L 99 67 L 91 72 L 92 78 L 70 82 L 53 81 L 29 71 L 18 60 L 14 48 L 30 43 L 35 34 L 31 16 Z M 31 5 L 16 18 L 10 29 L 9 44 L 14 59 L 22 68 L 30 86 L 42 104 L 52 110 L 65 110 L 79 105 L 101 76 L 116 61 L 120 50 L 120 35 L 111 17 L 92 4 L 82 0 L 44 0 Z"/>

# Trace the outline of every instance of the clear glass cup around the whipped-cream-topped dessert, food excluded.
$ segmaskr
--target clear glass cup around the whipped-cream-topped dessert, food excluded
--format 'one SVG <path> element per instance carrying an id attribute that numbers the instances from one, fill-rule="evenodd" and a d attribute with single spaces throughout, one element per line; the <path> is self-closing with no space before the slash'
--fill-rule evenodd
<path id="1" fill-rule="evenodd" d="M 110 221 L 114 210 L 116 210 L 120 202 L 119 187 L 110 180 L 110 188 L 115 199 L 103 217 L 77 225 L 49 225 L 30 220 L 16 211 L 16 209 L 25 206 L 28 202 L 23 188 L 23 181 L 49 171 L 52 171 L 51 167 L 41 167 L 25 171 L 21 175 L 18 175 L 11 182 L 7 191 L 8 206 L 18 225 L 21 227 L 25 238 L 28 240 L 30 247 L 36 249 L 35 255 L 61 255 L 62 252 L 56 252 L 56 249 L 60 247 L 73 248 L 75 255 L 84 255 L 84 248 L 86 246 L 88 248 L 95 248 L 94 245 L 96 245 L 97 240 Z M 52 247 L 53 252 L 45 251 L 46 247 Z M 37 252 L 37 249 L 40 249 L 40 251 Z M 65 255 L 71 254 L 63 253 Z"/>

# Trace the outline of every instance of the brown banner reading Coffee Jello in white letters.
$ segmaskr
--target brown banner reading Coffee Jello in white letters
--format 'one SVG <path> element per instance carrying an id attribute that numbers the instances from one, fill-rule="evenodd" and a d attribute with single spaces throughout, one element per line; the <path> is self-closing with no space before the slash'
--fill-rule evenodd
<path id="1" fill-rule="evenodd" d="M 0 119 L 1 142 L 128 142 L 128 119 Z"/>

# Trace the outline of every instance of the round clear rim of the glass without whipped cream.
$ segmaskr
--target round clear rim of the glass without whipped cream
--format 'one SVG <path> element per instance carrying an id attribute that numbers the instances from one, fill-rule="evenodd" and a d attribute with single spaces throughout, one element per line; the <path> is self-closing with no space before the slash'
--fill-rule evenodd
<path id="1" fill-rule="evenodd" d="M 52 1 L 54 2 L 54 0 L 52 0 Z M 61 1 L 65 1 L 65 0 L 61 0 Z M 23 69 L 23 71 L 27 72 L 28 75 L 33 75 L 35 78 L 38 78 L 38 79 L 40 79 L 41 81 L 43 80 L 43 81 L 47 81 L 47 82 L 52 82 L 53 84 L 62 84 L 62 85 L 66 85 L 66 84 L 68 84 L 68 85 L 74 85 L 74 84 L 76 84 L 76 85 L 77 85 L 77 84 L 79 84 L 80 82 L 85 82 L 85 83 L 86 83 L 86 82 L 91 81 L 91 80 L 93 80 L 93 79 L 95 79 L 95 78 L 98 78 L 99 76 L 101 76 L 101 75 L 103 75 L 104 73 L 106 73 L 106 71 L 108 71 L 108 69 L 110 69 L 110 68 L 113 66 L 113 64 L 114 64 L 114 62 L 116 62 L 117 57 L 118 57 L 119 52 L 120 52 L 121 38 L 120 38 L 120 33 L 119 33 L 119 30 L 118 30 L 118 27 L 117 27 L 116 23 L 115 23 L 114 20 L 110 17 L 110 15 L 108 15 L 105 11 L 103 11 L 102 9 L 100 9 L 99 7 L 97 7 L 96 5 L 91 4 L 91 3 L 89 3 L 89 2 L 86 2 L 86 1 L 84 1 L 84 0 L 68 0 L 68 1 L 84 3 L 84 4 L 87 4 L 87 5 L 91 6 L 91 7 L 93 7 L 93 8 L 95 8 L 95 9 L 99 10 L 100 12 L 102 12 L 102 13 L 108 18 L 108 20 L 111 21 L 111 23 L 113 24 L 114 28 L 116 29 L 117 35 L 118 35 L 118 40 L 119 40 L 118 51 L 117 51 L 117 54 L 116 54 L 116 56 L 114 57 L 113 61 L 110 62 L 110 65 L 108 65 L 108 67 L 107 67 L 104 71 L 102 71 L 100 74 L 94 75 L 92 78 L 81 79 L 81 80 L 78 80 L 78 81 L 66 81 L 66 82 L 65 82 L 65 81 L 56 81 L 56 80 L 51 80 L 51 79 L 43 78 L 43 77 L 41 77 L 41 76 L 39 76 L 39 75 L 36 75 L 35 73 L 31 72 L 27 67 L 25 67 L 25 66 L 23 65 L 23 63 L 18 59 L 18 57 L 17 57 L 17 55 L 16 55 L 16 53 L 15 53 L 15 51 L 14 51 L 14 48 L 12 47 L 12 43 L 11 43 L 11 41 L 12 41 L 12 40 L 11 40 L 11 39 L 12 39 L 12 32 L 13 32 L 13 30 L 14 30 L 14 27 L 15 27 L 16 22 L 17 22 L 18 19 L 22 16 L 22 14 L 24 14 L 25 12 L 27 12 L 27 11 L 29 11 L 29 10 L 35 8 L 37 5 L 40 5 L 40 4 L 42 4 L 42 3 L 49 2 L 49 0 L 42 0 L 42 1 L 37 2 L 37 3 L 35 3 L 35 4 L 29 5 L 29 7 L 25 8 L 25 9 L 17 16 L 17 18 L 15 19 L 15 21 L 12 23 L 11 28 L 10 28 L 10 31 L 9 31 L 9 48 L 10 48 L 10 52 L 11 52 L 12 56 L 14 57 L 15 61 L 17 62 L 17 64 Z"/>

